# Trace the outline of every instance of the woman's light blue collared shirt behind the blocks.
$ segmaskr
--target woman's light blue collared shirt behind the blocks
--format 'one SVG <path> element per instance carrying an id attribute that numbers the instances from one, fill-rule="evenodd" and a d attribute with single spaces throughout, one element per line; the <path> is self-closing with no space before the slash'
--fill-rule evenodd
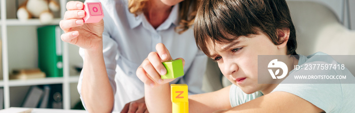
<path id="1" fill-rule="evenodd" d="M 203 93 L 202 77 L 207 57 L 197 48 L 192 28 L 182 34 L 174 31 L 179 24 L 179 4 L 172 8 L 164 23 L 154 29 L 144 14 L 134 17 L 128 11 L 127 0 L 100 2 L 104 11 L 103 57 L 115 95 L 114 112 L 120 112 L 126 103 L 144 96 L 144 83 L 135 72 L 148 54 L 156 51 L 157 43 L 165 44 L 172 59 L 185 59 L 185 75 L 170 84 L 187 84 L 189 94 Z M 85 59 L 82 48 L 79 53 Z M 81 74 L 78 82 L 80 95 L 82 78 Z"/>

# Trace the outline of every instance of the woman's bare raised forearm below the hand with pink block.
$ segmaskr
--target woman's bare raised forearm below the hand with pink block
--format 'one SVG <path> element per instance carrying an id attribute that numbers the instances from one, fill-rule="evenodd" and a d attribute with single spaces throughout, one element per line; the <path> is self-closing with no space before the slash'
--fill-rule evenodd
<path id="1" fill-rule="evenodd" d="M 114 93 L 105 68 L 102 49 L 85 51 L 81 95 L 89 112 L 111 112 Z"/>

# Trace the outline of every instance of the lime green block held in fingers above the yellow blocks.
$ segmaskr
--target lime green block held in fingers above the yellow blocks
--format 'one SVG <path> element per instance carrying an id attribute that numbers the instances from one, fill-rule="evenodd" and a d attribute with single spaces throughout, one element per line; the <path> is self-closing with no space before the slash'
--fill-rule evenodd
<path id="1" fill-rule="evenodd" d="M 184 75 L 184 67 L 182 60 L 171 60 L 163 62 L 166 68 L 166 74 L 161 76 L 161 79 L 174 79 Z"/>

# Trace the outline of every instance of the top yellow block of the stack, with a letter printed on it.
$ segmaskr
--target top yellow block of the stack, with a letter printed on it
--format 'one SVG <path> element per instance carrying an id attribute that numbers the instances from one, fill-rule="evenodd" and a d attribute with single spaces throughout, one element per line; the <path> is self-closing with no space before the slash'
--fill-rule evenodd
<path id="1" fill-rule="evenodd" d="M 189 102 L 186 84 L 171 84 L 171 102 Z"/>

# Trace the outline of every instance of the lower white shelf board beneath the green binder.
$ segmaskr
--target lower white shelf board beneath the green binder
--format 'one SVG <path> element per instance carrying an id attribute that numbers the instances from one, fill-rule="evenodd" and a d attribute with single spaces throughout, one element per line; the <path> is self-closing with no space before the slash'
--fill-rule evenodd
<path id="1" fill-rule="evenodd" d="M 79 76 L 70 76 L 69 83 L 76 83 L 79 80 Z M 31 86 L 31 85 L 46 85 L 46 84 L 62 84 L 63 77 L 46 77 L 38 79 L 26 79 L 26 80 L 9 80 L 9 87 L 14 86 Z M 0 87 L 4 87 L 4 82 L 0 81 Z"/>

